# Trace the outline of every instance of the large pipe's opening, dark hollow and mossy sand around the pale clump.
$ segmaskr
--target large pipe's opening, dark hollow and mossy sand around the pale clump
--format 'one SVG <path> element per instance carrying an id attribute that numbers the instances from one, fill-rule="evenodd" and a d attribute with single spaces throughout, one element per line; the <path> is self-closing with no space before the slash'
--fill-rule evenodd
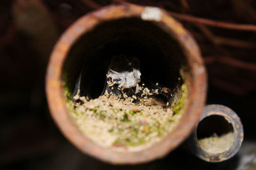
<path id="1" fill-rule="evenodd" d="M 63 66 L 63 89 L 68 101 L 73 102 L 71 111 L 76 114 L 71 117 L 80 130 L 101 146 L 129 146 L 134 148 L 131 151 L 143 149 L 137 147 L 140 145 L 148 147 L 171 132 L 179 122 L 180 117 L 177 115 L 186 106 L 188 90 L 192 85 L 188 56 L 179 43 L 170 28 L 163 23 L 137 17 L 100 22 L 81 36 L 70 49 Z M 155 91 L 159 88 L 156 95 L 150 96 L 152 100 L 147 101 L 149 106 L 137 104 L 141 100 L 133 94 L 129 97 L 132 97 L 135 105 L 129 103 L 130 110 L 127 104 L 122 103 L 118 103 L 122 105 L 118 109 L 110 108 L 118 104 L 111 103 L 110 99 L 99 98 L 104 94 L 102 91 L 108 78 L 106 74 L 116 56 L 140 62 L 140 87 Z M 86 97 L 88 101 L 83 108 L 80 107 L 83 101 L 74 103 L 77 82 L 80 82 L 79 96 Z M 105 107 L 106 103 L 110 104 Z M 160 108 L 156 109 L 156 105 Z M 79 108 L 78 111 L 85 108 L 97 122 L 86 123 L 88 119 L 81 118 L 85 117 L 84 113 L 78 113 L 76 108 Z M 106 127 L 98 128 L 100 122 Z"/>

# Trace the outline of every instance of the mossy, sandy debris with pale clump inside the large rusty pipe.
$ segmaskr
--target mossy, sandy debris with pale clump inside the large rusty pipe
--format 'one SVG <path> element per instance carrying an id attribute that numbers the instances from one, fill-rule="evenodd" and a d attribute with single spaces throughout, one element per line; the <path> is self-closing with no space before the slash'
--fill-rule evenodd
<path id="1" fill-rule="evenodd" d="M 83 134 L 100 146 L 139 151 L 166 136 L 179 122 L 188 93 L 185 83 L 179 101 L 172 103 L 170 89 L 143 80 L 136 57 L 112 57 L 104 90 L 96 99 L 80 96 L 81 74 L 68 108 Z"/>

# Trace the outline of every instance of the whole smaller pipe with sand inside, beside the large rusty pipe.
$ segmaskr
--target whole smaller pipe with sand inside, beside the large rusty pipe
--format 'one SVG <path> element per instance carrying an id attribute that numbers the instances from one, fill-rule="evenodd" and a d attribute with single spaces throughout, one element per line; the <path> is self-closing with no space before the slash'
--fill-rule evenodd
<path id="1" fill-rule="evenodd" d="M 188 145 L 200 159 L 222 162 L 236 155 L 243 138 L 243 125 L 237 114 L 225 106 L 211 104 L 205 106 L 195 131 L 188 138 Z"/>

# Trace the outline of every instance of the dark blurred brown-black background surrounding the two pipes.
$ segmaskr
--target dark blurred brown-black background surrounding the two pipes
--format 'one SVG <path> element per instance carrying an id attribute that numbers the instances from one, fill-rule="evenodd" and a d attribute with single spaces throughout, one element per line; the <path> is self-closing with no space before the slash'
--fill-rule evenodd
<path id="1" fill-rule="evenodd" d="M 83 155 L 49 114 L 44 91 L 47 60 L 60 34 L 77 18 L 125 1 L 1 0 L 0 169 L 256 169 L 256 1 L 126 2 L 160 6 L 193 34 L 209 76 L 207 104 L 224 104 L 241 117 L 241 151 L 213 164 L 177 148 L 164 159 L 132 167 Z"/>

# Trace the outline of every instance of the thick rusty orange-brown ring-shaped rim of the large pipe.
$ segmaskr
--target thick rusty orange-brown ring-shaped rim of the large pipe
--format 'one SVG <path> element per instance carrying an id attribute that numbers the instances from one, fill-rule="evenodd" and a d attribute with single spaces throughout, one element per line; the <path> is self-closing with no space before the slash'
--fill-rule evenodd
<path id="1" fill-rule="evenodd" d="M 157 12 L 157 17 L 154 12 Z M 61 74 L 63 73 L 63 64 L 70 48 L 85 32 L 92 30 L 95 25 L 101 22 L 129 17 L 140 18 L 142 22 L 143 20 L 152 20 L 164 25 L 165 29 L 172 34 L 172 38 L 179 43 L 186 60 L 188 60 L 191 68 L 191 80 L 189 80 L 188 101 L 183 109 L 184 114 L 180 118 L 177 127 L 170 134 L 145 150 L 139 152 L 117 152 L 93 143 L 70 120 L 63 96 Z M 132 4 L 111 5 L 79 18 L 58 40 L 47 68 L 46 94 L 52 118 L 65 137 L 79 150 L 111 164 L 139 164 L 164 157 L 189 136 L 204 108 L 207 89 L 206 79 L 205 67 L 198 45 L 196 45 L 195 40 L 188 31 L 179 22 L 170 17 L 166 11 L 160 8 L 148 8 Z"/>

